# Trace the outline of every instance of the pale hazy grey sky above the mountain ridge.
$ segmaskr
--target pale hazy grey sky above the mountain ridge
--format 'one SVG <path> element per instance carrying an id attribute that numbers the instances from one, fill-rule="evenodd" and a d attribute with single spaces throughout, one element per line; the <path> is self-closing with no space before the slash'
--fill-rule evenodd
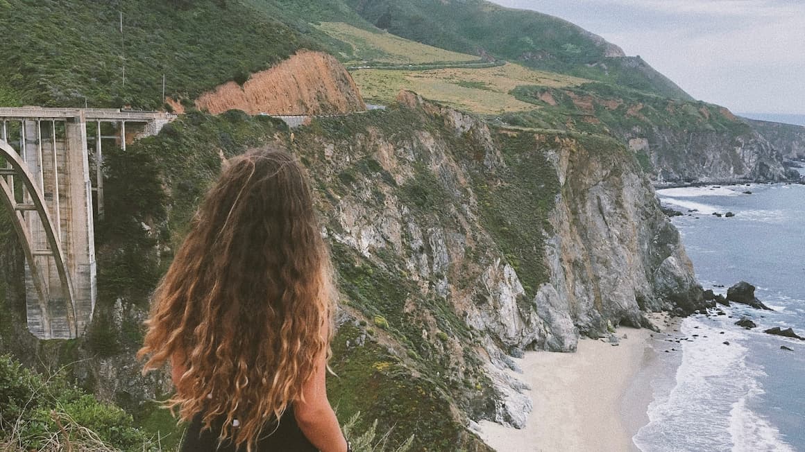
<path id="1" fill-rule="evenodd" d="M 492 0 L 564 18 L 702 101 L 805 114 L 805 0 Z"/>

